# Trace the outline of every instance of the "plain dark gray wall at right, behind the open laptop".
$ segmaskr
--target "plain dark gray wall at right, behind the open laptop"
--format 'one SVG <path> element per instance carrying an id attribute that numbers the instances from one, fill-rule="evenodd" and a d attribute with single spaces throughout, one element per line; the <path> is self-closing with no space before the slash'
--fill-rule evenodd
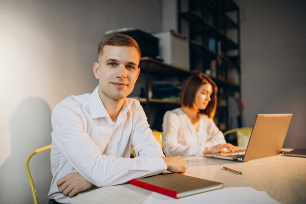
<path id="1" fill-rule="evenodd" d="M 286 148 L 306 148 L 306 1 L 235 0 L 241 9 L 243 124 L 293 113 Z"/>

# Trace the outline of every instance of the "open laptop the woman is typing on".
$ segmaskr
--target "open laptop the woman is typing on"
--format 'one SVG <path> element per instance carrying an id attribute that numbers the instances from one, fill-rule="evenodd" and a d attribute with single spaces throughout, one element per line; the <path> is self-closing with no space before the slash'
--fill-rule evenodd
<path id="1" fill-rule="evenodd" d="M 292 114 L 258 114 L 243 152 L 205 154 L 205 157 L 248 161 L 278 155 L 283 147 Z"/>

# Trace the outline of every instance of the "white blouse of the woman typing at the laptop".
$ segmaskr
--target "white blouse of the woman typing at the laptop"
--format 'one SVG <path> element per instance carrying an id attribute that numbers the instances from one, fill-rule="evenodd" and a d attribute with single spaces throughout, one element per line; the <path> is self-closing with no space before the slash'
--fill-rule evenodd
<path id="1" fill-rule="evenodd" d="M 203 155 L 206 147 L 226 143 L 213 119 L 200 114 L 198 130 L 180 108 L 167 111 L 163 120 L 163 151 L 167 157 Z"/>

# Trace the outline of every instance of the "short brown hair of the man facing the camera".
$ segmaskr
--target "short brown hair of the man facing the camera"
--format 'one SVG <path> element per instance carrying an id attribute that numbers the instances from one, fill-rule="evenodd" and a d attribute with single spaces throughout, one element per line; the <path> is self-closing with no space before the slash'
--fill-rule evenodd
<path id="1" fill-rule="evenodd" d="M 103 48 L 105 45 L 112 45 L 112 46 L 132 46 L 135 47 L 141 57 L 141 50 L 137 42 L 128 35 L 121 34 L 121 33 L 112 33 L 106 36 L 99 44 L 98 47 L 98 57 L 103 54 Z"/>

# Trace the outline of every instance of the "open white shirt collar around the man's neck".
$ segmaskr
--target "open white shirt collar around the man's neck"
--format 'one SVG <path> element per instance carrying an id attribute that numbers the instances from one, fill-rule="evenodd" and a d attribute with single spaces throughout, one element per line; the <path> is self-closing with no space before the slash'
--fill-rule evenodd
<path id="1" fill-rule="evenodd" d="M 106 111 L 99 92 L 98 92 L 98 87 L 96 87 L 96 89 L 94 91 L 92 91 L 92 93 L 90 94 L 89 97 L 89 102 L 90 102 L 90 115 L 91 118 L 98 118 L 98 117 L 107 117 L 109 116 L 109 113 Z M 125 98 L 124 104 L 122 106 L 122 109 L 119 113 L 119 116 L 124 116 L 125 114 L 127 114 L 129 111 L 131 110 L 131 105 L 129 104 L 127 98 Z"/>

